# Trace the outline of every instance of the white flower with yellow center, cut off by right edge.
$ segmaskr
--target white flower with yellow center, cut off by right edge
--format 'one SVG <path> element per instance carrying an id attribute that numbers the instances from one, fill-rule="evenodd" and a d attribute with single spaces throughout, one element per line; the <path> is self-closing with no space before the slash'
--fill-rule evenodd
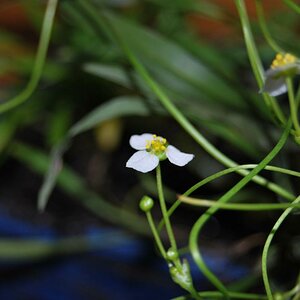
<path id="1" fill-rule="evenodd" d="M 270 69 L 265 73 L 265 83 L 261 92 L 271 96 L 279 96 L 287 92 L 285 79 L 300 73 L 300 64 L 297 57 L 292 54 L 278 53 Z"/>

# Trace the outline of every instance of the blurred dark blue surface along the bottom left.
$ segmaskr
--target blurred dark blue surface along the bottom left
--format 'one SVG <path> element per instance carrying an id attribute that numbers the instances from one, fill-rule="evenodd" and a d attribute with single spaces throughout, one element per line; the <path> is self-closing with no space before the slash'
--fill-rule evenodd
<path id="1" fill-rule="evenodd" d="M 62 238 L 51 228 L 33 226 L 1 210 L 0 235 L 50 243 Z M 165 262 L 153 255 L 152 244 L 109 228 L 88 228 L 85 236 L 94 250 L 39 262 L 0 261 L 0 299 L 159 300 L 184 294 L 171 282 Z M 107 241 L 109 246 L 103 248 Z M 205 278 L 188 259 L 195 285 L 201 288 Z M 245 268 L 224 258 L 205 255 L 205 260 L 217 274 L 230 270 L 232 280 L 246 274 Z"/>

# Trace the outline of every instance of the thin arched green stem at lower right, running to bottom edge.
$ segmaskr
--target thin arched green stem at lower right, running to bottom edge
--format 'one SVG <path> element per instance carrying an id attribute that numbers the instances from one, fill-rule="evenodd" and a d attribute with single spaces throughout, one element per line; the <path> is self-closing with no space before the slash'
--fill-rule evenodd
<path id="1" fill-rule="evenodd" d="M 300 196 L 298 196 L 295 201 L 293 201 L 293 204 L 299 203 L 300 202 Z M 262 252 L 262 276 L 263 276 L 263 281 L 264 281 L 264 285 L 265 285 L 265 290 L 268 296 L 269 300 L 273 300 L 273 294 L 272 294 L 272 290 L 271 290 L 271 286 L 269 283 L 269 279 L 268 279 L 268 271 L 267 271 L 267 260 L 268 260 L 268 252 L 269 252 L 269 248 L 272 242 L 272 239 L 275 235 L 275 233 L 277 232 L 278 228 L 280 227 L 280 225 L 283 223 L 283 221 L 286 219 L 286 217 L 290 214 L 290 212 L 293 210 L 294 207 L 289 207 L 287 208 L 282 215 L 279 217 L 279 219 L 276 221 L 275 225 L 273 226 L 270 234 L 268 235 L 268 238 L 266 240 L 266 243 L 264 245 L 264 249 Z"/>

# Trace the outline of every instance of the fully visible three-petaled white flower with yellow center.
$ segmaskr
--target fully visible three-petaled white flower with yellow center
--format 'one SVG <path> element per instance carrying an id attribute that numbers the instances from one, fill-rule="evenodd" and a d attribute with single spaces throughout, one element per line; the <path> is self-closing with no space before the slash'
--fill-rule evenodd
<path id="1" fill-rule="evenodd" d="M 167 140 L 155 134 L 144 133 L 133 135 L 129 140 L 130 146 L 139 150 L 135 152 L 127 161 L 126 167 L 133 168 L 137 171 L 147 173 L 154 170 L 160 160 L 168 159 L 176 166 L 185 166 L 193 158 L 193 154 L 183 153 Z"/>

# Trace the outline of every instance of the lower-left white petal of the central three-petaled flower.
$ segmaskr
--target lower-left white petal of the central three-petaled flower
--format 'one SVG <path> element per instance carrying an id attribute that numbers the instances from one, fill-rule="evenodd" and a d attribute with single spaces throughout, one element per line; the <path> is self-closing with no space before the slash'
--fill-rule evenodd
<path id="1" fill-rule="evenodd" d="M 154 170 L 159 163 L 159 159 L 156 155 L 147 151 L 135 152 L 127 161 L 126 167 L 132 168 L 137 171 L 147 173 Z"/>

